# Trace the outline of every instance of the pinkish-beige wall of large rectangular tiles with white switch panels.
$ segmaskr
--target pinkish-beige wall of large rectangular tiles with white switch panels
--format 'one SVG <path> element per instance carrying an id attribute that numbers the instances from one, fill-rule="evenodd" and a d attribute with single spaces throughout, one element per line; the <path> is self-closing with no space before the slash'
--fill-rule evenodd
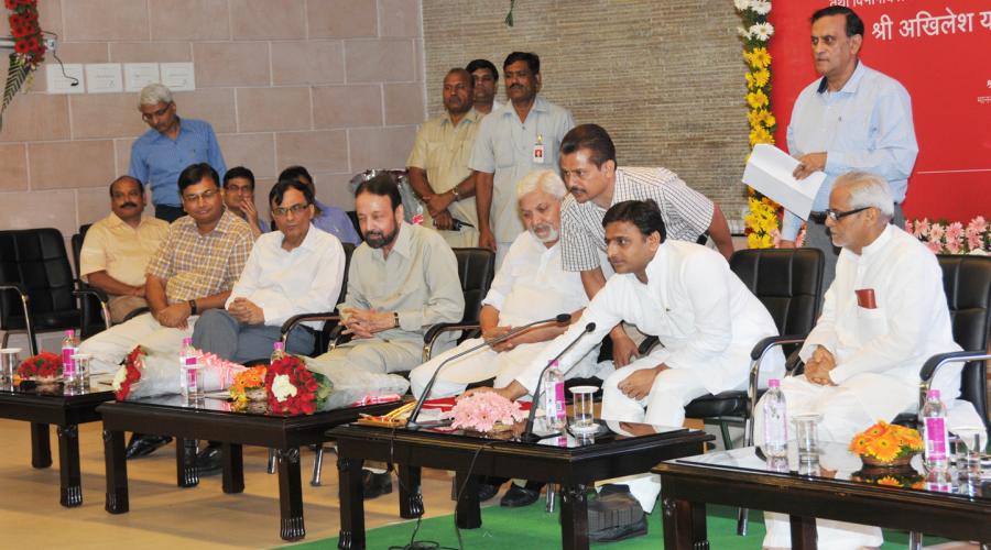
<path id="1" fill-rule="evenodd" d="M 424 118 L 418 0 L 41 0 L 39 10 L 65 63 L 193 62 L 197 89 L 176 94 L 179 116 L 214 125 L 227 165 L 260 178 L 260 206 L 281 168 L 303 164 L 322 200 L 350 209 L 350 175 L 402 166 Z M 148 127 L 137 94 L 47 95 L 44 73 L 3 118 L 0 229 L 69 237 L 109 212 L 107 186 Z"/>

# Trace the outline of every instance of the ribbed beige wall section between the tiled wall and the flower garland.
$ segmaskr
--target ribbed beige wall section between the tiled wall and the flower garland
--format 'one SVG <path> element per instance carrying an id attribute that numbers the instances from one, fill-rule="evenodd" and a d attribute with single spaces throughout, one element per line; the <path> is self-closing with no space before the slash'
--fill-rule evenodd
<path id="1" fill-rule="evenodd" d="M 431 113 L 442 109 L 450 67 L 486 57 L 501 74 L 511 51 L 536 52 L 544 96 L 578 123 L 605 127 L 620 165 L 668 167 L 727 218 L 741 218 L 749 129 L 731 1 L 524 0 L 512 29 L 502 23 L 508 9 L 508 1 L 424 1 Z"/>

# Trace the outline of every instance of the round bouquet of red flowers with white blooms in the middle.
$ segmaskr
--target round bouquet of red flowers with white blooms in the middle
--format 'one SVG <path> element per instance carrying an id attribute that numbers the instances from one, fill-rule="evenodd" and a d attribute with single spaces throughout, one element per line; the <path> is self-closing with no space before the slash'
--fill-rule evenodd
<path id="1" fill-rule="evenodd" d="M 265 389 L 272 413 L 312 415 L 327 400 L 333 386 L 323 374 L 306 370 L 303 360 L 286 355 L 269 365 Z"/>

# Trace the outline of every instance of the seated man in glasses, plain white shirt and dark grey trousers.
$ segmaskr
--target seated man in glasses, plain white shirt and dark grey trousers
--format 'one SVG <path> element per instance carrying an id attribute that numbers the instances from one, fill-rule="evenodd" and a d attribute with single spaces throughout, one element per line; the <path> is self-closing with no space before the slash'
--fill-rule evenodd
<path id="1" fill-rule="evenodd" d="M 330 311 L 344 280 L 340 241 L 314 227 L 313 190 L 295 179 L 269 193 L 277 231 L 258 238 L 225 308 L 205 311 L 193 345 L 236 363 L 264 359 L 282 337 L 281 327 L 300 314 Z M 319 330 L 323 323 L 308 323 Z M 294 330 L 286 351 L 313 352 L 313 333 Z"/>

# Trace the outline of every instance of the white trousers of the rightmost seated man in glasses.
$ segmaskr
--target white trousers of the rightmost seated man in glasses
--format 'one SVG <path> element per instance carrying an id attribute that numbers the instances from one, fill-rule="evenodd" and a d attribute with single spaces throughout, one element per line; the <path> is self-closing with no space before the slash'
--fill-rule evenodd
<path id="1" fill-rule="evenodd" d="M 819 439 L 840 443 L 850 441 L 854 435 L 879 420 L 871 417 L 862 402 L 862 395 L 870 395 L 865 392 L 869 388 L 875 392 L 874 395 L 883 395 L 885 402 L 900 403 L 901 410 L 915 410 L 917 406 L 918 389 L 915 386 L 882 374 L 858 374 L 840 386 L 820 386 L 808 382 L 805 376 L 791 376 L 781 381 L 788 418 L 806 414 L 821 415 Z M 764 442 L 761 405 L 758 404 L 754 414 L 754 441 L 759 446 Z M 893 417 L 883 420 L 890 421 Z M 788 436 L 793 437 L 794 433 L 789 430 Z M 792 547 L 791 525 L 786 514 L 765 512 L 764 526 L 767 528 L 765 547 Z M 816 531 L 823 550 L 880 547 L 884 542 L 880 528 L 858 524 L 816 519 Z"/>

